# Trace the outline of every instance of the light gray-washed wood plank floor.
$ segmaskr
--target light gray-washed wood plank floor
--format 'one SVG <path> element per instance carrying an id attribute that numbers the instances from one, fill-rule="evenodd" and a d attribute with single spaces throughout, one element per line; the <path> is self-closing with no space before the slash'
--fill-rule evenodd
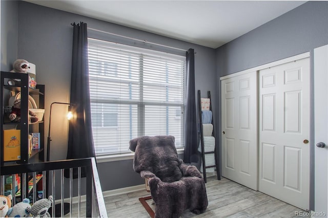
<path id="1" fill-rule="evenodd" d="M 182 214 L 182 218 L 295 217 L 296 211 L 304 212 L 297 207 L 272 198 L 267 194 L 249 189 L 226 178 L 217 180 L 216 177 L 209 177 L 207 179 L 206 189 L 209 201 L 206 212 L 195 215 L 186 210 Z M 150 217 L 138 200 L 140 197 L 149 195 L 145 190 L 105 198 L 108 217 Z"/>

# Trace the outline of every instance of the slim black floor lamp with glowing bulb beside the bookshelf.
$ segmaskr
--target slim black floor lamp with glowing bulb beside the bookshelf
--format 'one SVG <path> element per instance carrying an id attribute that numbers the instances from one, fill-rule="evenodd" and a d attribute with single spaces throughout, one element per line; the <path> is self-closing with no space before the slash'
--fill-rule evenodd
<path id="1" fill-rule="evenodd" d="M 47 162 L 50 161 L 50 142 L 51 142 L 51 138 L 50 138 L 50 127 L 51 127 L 51 110 L 52 110 L 52 105 L 53 104 L 66 104 L 69 105 L 68 106 L 68 113 L 67 113 L 67 119 L 70 120 L 73 118 L 73 112 L 72 112 L 72 104 L 70 103 L 63 103 L 63 102 L 52 102 L 50 105 L 50 114 L 49 114 L 49 128 L 48 128 L 48 140 L 47 140 Z M 49 171 L 47 171 L 47 194 L 49 194 L 48 192 L 48 186 L 49 186 Z M 67 213 L 69 213 L 70 211 L 70 204 L 69 203 L 64 203 L 64 214 L 66 215 Z M 52 213 L 52 210 L 49 209 L 49 213 Z M 60 217 L 61 215 L 61 204 L 56 204 L 55 205 L 55 216 L 52 217 Z"/>

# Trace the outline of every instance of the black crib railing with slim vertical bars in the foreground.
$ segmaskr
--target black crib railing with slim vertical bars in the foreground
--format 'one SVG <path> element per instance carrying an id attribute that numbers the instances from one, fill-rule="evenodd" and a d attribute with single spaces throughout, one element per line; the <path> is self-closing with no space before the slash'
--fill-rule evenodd
<path id="1" fill-rule="evenodd" d="M 75 170 L 77 176 L 73 177 Z M 85 178 L 81 177 L 81 171 L 85 172 Z M 8 165 L 2 166 L 0 173 L 0 194 L 8 195 L 8 190 L 7 193 L 5 191 L 6 185 L 7 189 L 9 185 L 12 188 L 12 205 L 25 198 L 34 203 L 39 198 L 52 195 L 53 205 L 56 205 L 48 211 L 54 214 L 52 217 L 107 217 L 94 158 Z M 11 176 L 10 180 L 8 176 Z M 17 176 L 18 191 L 15 189 Z M 67 214 L 65 205 L 69 205 Z"/>

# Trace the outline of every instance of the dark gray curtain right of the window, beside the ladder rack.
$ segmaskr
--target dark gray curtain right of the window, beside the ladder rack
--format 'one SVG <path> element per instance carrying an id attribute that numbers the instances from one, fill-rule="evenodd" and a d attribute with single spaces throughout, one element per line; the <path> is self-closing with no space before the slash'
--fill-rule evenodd
<path id="1" fill-rule="evenodd" d="M 189 49 L 186 53 L 187 90 L 185 108 L 185 153 L 183 162 L 198 162 L 196 93 L 195 93 L 195 51 Z"/>

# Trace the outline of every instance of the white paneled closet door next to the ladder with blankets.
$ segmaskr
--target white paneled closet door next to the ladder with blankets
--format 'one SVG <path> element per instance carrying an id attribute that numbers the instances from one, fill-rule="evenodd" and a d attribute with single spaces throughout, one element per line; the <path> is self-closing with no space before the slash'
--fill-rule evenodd
<path id="1" fill-rule="evenodd" d="M 257 190 L 256 72 L 221 81 L 222 176 Z"/>

